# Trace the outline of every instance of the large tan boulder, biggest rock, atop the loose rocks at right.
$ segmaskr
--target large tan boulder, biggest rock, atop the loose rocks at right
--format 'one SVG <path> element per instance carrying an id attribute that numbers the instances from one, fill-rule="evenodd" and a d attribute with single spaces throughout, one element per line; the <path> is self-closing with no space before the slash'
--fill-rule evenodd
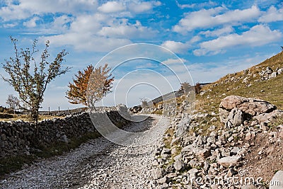
<path id="1" fill-rule="evenodd" d="M 260 99 L 227 96 L 219 105 L 219 118 L 226 127 L 236 127 L 251 118 L 270 122 L 272 118 L 283 115 L 282 111 L 276 109 L 275 105 Z"/>

